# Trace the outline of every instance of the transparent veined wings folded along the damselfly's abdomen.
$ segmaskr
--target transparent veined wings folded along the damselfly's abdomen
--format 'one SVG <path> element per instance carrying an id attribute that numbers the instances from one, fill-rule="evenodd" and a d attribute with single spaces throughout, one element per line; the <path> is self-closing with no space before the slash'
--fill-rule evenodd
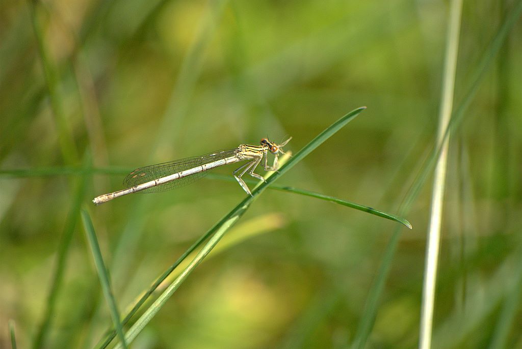
<path id="1" fill-rule="evenodd" d="M 123 180 L 123 184 L 126 186 L 126 188 L 131 188 L 142 183 L 172 175 L 173 173 L 185 171 L 203 164 L 212 163 L 213 161 L 234 156 L 238 153 L 238 151 L 239 148 L 222 149 L 220 151 L 201 156 L 187 157 L 185 159 L 168 161 L 167 163 L 140 167 L 129 173 Z M 191 184 L 198 179 L 205 177 L 207 172 L 208 171 L 194 173 L 194 175 L 153 186 L 152 188 L 142 190 L 139 193 L 159 193 L 174 188 L 180 188 L 180 186 Z"/>

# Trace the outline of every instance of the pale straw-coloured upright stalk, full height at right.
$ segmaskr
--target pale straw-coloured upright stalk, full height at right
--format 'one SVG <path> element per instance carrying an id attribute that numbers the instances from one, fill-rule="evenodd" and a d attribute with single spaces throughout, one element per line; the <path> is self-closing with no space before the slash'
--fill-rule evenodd
<path id="1" fill-rule="evenodd" d="M 449 135 L 445 136 L 444 130 L 448 128 L 453 109 L 461 13 L 462 0 L 453 0 L 449 10 L 447 46 L 444 58 L 441 97 L 442 103 L 439 112 L 440 123 L 437 135 L 437 145 L 441 148 L 441 152 L 438 156 L 435 177 L 433 179 L 430 225 L 428 230 L 428 243 L 426 244 L 426 261 L 424 267 L 424 283 L 421 303 L 421 326 L 419 334 L 419 347 L 422 349 L 431 348 L 438 250 L 441 241 L 442 210 L 449 148 Z"/>

